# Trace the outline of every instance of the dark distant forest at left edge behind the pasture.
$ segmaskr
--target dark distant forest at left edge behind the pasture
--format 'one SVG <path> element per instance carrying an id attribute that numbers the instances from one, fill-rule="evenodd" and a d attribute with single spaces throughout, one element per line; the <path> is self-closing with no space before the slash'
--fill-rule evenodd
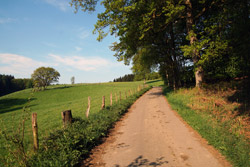
<path id="1" fill-rule="evenodd" d="M 12 75 L 0 74 L 0 96 L 32 87 L 31 79 L 15 79 Z"/>

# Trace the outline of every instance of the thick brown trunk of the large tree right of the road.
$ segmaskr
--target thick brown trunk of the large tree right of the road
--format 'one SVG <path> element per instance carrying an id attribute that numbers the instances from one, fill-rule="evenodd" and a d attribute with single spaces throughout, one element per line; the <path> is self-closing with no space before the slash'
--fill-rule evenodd
<path id="1" fill-rule="evenodd" d="M 190 0 L 186 0 L 186 7 L 187 7 L 187 18 L 186 18 L 187 31 L 190 36 L 190 45 L 193 45 L 193 43 L 197 41 L 197 38 L 192 29 L 192 26 L 194 25 L 194 18 L 192 15 L 192 10 L 193 10 L 192 3 Z M 201 65 L 197 65 L 198 61 L 200 60 L 200 54 L 197 50 L 193 50 L 192 59 L 195 66 L 196 87 L 201 87 L 201 84 L 203 82 L 203 69 Z"/>

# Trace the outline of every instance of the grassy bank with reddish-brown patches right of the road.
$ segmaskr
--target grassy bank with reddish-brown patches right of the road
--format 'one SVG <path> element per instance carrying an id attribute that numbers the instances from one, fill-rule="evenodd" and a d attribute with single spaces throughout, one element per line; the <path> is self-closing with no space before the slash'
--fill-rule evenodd
<path id="1" fill-rule="evenodd" d="M 237 83 L 239 86 L 241 83 Z M 242 86 L 240 86 L 243 88 Z M 165 87 L 166 97 L 173 110 L 195 130 L 208 144 L 218 149 L 234 166 L 250 166 L 250 119 L 245 105 L 249 97 L 239 96 L 244 100 L 228 100 L 239 89 L 232 90 L 228 85 L 217 85 L 198 90 L 180 89 L 172 91 Z M 248 90 L 244 90 L 247 92 Z M 245 93 L 244 92 L 244 93 Z M 242 103 L 243 104 L 242 104 Z"/>

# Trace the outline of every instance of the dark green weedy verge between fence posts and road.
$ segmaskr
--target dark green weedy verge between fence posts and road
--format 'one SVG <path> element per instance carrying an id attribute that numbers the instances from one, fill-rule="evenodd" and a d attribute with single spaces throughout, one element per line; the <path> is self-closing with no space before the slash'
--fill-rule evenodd
<path id="1" fill-rule="evenodd" d="M 42 139 L 39 152 L 27 161 L 27 166 L 83 165 L 80 161 L 88 157 L 90 150 L 101 142 L 101 138 L 108 134 L 114 123 L 149 89 L 145 88 L 119 104 L 106 107 L 90 115 L 89 119 L 75 118 L 70 127 L 50 133 Z"/>

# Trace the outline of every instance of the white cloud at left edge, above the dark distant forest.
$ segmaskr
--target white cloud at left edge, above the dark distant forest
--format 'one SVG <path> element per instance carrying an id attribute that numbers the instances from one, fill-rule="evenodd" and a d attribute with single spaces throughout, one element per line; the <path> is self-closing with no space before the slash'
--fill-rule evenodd
<path id="1" fill-rule="evenodd" d="M 36 68 L 46 65 L 46 63 L 10 53 L 0 54 L 0 64 L 0 71 L 2 73 L 17 77 L 30 77 Z"/>

